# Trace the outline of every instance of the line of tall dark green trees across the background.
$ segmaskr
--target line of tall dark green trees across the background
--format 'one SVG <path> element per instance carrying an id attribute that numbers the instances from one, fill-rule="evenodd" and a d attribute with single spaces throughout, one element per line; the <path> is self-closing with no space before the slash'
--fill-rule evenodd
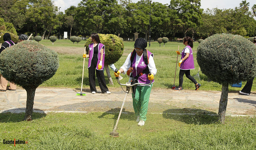
<path id="1" fill-rule="evenodd" d="M 13 23 L 18 34 L 33 33 L 44 39 L 51 35 L 63 37 L 90 35 L 92 32 L 115 34 L 124 39 L 149 37 L 148 0 L 132 3 L 131 0 L 82 0 L 59 12 L 51 0 L 3 0 L 0 17 Z M 151 39 L 186 35 L 206 38 L 216 33 L 231 33 L 252 37 L 256 35 L 256 4 L 241 1 L 234 9 L 203 11 L 200 0 L 171 0 L 170 5 L 151 4 Z"/>

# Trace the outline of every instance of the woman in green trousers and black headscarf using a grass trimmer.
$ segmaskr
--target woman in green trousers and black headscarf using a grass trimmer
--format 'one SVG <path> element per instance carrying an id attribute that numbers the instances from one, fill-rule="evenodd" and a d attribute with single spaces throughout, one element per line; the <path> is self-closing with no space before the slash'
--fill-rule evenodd
<path id="1" fill-rule="evenodd" d="M 153 54 L 145 48 L 147 47 L 146 40 L 138 38 L 134 44 L 134 50 L 132 55 L 130 53 L 127 56 L 123 66 L 115 73 L 115 77 L 118 77 L 120 73 L 125 73 L 132 67 L 132 76 L 138 80 L 135 83 L 146 83 L 149 84 L 150 80 L 154 82 L 154 75 L 157 73 L 157 69 L 154 63 Z M 147 52 L 148 64 L 145 63 L 143 50 Z M 131 57 L 134 56 L 133 60 Z M 151 73 L 151 75 L 149 75 Z M 148 111 L 149 96 L 153 84 L 150 86 L 137 85 L 132 93 L 132 103 L 135 115 L 137 116 L 138 126 L 143 126 L 146 121 L 146 114 Z"/>

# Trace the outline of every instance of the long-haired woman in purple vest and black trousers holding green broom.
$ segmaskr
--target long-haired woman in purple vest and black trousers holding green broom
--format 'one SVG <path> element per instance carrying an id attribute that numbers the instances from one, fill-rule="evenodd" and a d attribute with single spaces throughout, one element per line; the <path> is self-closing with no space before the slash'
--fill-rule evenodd
<path id="1" fill-rule="evenodd" d="M 99 35 L 97 33 L 91 34 L 91 44 L 89 44 L 89 52 L 88 54 L 83 54 L 83 58 L 89 58 L 88 61 L 88 71 L 89 71 L 89 83 L 90 90 L 92 94 L 96 93 L 96 84 L 95 84 L 95 69 L 96 75 L 99 82 L 99 87 L 102 93 L 110 94 L 108 91 L 103 67 L 104 67 L 104 59 L 105 59 L 105 45 L 103 45 L 99 40 Z"/>

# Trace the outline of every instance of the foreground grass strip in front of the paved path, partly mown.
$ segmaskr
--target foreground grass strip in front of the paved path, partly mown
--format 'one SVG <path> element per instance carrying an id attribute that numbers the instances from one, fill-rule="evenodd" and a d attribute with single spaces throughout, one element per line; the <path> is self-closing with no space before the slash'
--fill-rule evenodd
<path id="1" fill-rule="evenodd" d="M 0 116 L 0 147 L 5 149 L 232 149 L 254 150 L 256 119 L 227 116 L 219 124 L 217 116 L 198 114 L 174 116 L 148 114 L 145 126 L 138 127 L 134 113 L 122 114 L 120 137 L 112 138 L 118 113 L 33 113 L 32 121 L 22 121 L 24 113 Z M 26 140 L 27 144 L 3 144 L 5 140 Z"/>

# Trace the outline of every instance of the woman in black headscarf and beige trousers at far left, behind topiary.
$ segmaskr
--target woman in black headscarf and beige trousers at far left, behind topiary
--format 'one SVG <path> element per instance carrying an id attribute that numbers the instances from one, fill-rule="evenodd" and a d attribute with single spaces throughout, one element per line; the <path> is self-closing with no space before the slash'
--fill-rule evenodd
<path id="1" fill-rule="evenodd" d="M 3 36 L 3 39 L 4 39 L 4 43 L 2 44 L 2 46 L 0 48 L 0 53 L 4 49 L 9 48 L 12 45 L 15 45 L 14 42 L 12 41 L 11 35 L 9 33 L 5 33 Z M 8 84 L 8 81 L 1 75 L 0 91 L 6 91 L 7 84 Z M 8 90 L 16 90 L 16 85 L 10 82 L 10 87 L 8 88 Z"/>

